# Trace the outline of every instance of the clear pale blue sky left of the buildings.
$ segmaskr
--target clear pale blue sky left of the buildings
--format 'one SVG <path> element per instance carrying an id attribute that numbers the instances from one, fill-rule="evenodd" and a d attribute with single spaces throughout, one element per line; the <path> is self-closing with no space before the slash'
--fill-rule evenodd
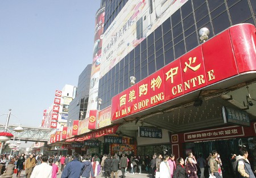
<path id="1" fill-rule="evenodd" d="M 0 1 L 0 115 L 38 127 L 55 90 L 92 63 L 100 0 Z M 0 116 L 5 124 L 7 115 Z"/>

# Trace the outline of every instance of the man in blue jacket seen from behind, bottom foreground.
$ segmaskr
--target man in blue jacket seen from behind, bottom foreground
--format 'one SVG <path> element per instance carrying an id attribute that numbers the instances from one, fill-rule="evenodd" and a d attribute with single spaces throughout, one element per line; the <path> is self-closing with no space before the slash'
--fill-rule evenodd
<path id="1" fill-rule="evenodd" d="M 80 162 L 79 158 L 80 155 L 75 152 L 72 155 L 73 160 L 64 167 L 61 178 L 75 178 L 81 176 L 82 169 L 84 169 L 85 166 L 84 163 Z"/>

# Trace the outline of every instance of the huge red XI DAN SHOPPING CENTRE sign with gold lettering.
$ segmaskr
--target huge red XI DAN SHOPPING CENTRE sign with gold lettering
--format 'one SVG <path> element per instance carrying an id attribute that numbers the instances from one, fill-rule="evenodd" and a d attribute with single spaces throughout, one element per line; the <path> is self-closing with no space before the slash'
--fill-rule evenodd
<path id="1" fill-rule="evenodd" d="M 251 60 L 255 59 L 255 53 L 247 52 L 247 46 L 255 46 L 254 31 L 255 27 L 250 24 L 230 27 L 156 73 L 115 95 L 112 98 L 112 121 L 221 80 L 256 70 L 256 65 L 243 66 L 245 63 L 255 63 Z M 240 35 L 243 37 L 241 38 Z M 241 40 L 248 41 L 245 47 L 241 46 Z M 250 49 L 254 50 L 251 47 Z"/>

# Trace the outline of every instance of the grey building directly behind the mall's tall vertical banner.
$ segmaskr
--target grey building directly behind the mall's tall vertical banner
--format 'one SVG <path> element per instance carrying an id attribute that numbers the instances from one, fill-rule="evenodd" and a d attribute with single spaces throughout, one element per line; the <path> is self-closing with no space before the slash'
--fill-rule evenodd
<path id="1" fill-rule="evenodd" d="M 80 111 L 84 112 L 84 115 L 82 115 L 82 119 L 85 118 L 85 113 L 87 111 L 87 105 L 88 105 L 91 70 L 92 70 L 92 65 L 90 64 L 86 66 L 84 71 L 82 71 L 82 73 L 79 75 L 76 97 L 69 104 L 69 112 L 68 112 L 69 121 L 81 119 Z"/>

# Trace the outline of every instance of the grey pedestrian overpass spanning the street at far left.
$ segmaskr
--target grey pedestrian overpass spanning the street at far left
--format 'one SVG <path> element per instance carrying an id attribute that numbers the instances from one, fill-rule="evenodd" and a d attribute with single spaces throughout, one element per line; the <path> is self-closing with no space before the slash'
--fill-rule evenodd
<path id="1" fill-rule="evenodd" d="M 33 128 L 29 126 L 22 126 L 24 129 L 23 132 L 15 132 L 14 128 L 19 125 L 8 126 L 8 130 L 10 133 L 14 135 L 14 138 L 11 139 L 20 139 L 20 141 L 28 141 L 28 142 L 47 142 L 49 141 L 49 135 L 51 129 L 49 128 Z M 0 125 L 0 132 L 4 132 L 5 126 Z"/>

